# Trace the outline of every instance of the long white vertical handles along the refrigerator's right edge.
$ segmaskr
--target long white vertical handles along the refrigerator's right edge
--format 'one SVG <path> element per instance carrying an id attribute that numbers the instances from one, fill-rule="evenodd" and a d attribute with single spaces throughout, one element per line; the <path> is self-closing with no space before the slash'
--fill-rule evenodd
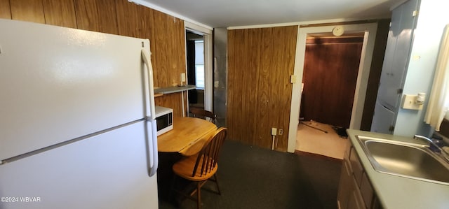
<path id="1" fill-rule="evenodd" d="M 145 80 L 145 117 L 147 124 L 145 127 L 151 128 L 152 140 L 147 140 L 149 151 L 149 176 L 153 176 L 157 171 L 158 166 L 158 152 L 157 152 L 157 134 L 156 134 L 156 113 L 154 110 L 154 82 L 153 82 L 153 67 L 149 52 L 142 49 L 142 60 L 147 66 L 147 70 L 144 73 Z M 148 122 L 151 123 L 151 127 L 148 127 Z M 148 132 L 147 132 L 148 133 Z"/>

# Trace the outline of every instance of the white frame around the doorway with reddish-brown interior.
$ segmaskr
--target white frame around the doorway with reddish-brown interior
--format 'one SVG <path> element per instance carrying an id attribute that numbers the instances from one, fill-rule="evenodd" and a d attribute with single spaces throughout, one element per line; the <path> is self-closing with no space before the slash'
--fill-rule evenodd
<path id="1" fill-rule="evenodd" d="M 292 89 L 290 123 L 288 129 L 288 152 L 295 152 L 296 147 L 297 126 L 299 124 L 300 118 L 300 92 L 302 87 L 302 74 L 304 72 L 304 56 L 307 34 L 332 33 L 332 30 L 337 26 L 343 27 L 344 31 L 347 32 L 363 32 L 365 34 L 363 38 L 360 64 L 358 66 L 358 75 L 349 129 L 360 129 L 361 127 L 363 106 L 365 104 L 366 89 L 368 87 L 368 78 L 370 75 L 371 61 L 373 59 L 373 51 L 377 33 L 377 22 L 366 24 L 331 25 L 321 27 L 298 27 L 295 68 L 293 71 L 293 75 L 296 76 L 297 82 L 293 83 Z"/>

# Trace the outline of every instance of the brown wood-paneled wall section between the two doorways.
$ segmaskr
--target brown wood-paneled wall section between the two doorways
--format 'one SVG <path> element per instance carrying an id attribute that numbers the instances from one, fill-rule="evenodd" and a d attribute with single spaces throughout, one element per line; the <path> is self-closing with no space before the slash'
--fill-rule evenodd
<path id="1" fill-rule="evenodd" d="M 297 26 L 228 31 L 229 139 L 286 151 Z"/>

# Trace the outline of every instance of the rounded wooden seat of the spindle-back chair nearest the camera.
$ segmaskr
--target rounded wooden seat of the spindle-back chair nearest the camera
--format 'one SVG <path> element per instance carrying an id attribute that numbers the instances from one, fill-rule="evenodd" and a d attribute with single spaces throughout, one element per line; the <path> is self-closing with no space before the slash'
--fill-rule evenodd
<path id="1" fill-rule="evenodd" d="M 201 175 L 201 169 L 197 169 L 194 176 L 192 176 L 192 171 L 194 171 L 194 166 L 196 159 L 198 158 L 198 154 L 192 155 L 190 157 L 185 157 L 184 159 L 181 159 L 180 161 L 177 161 L 173 165 L 173 172 L 176 173 L 176 175 L 179 175 L 182 178 L 185 178 L 187 180 L 192 181 L 203 181 L 208 180 L 211 178 L 215 173 L 217 173 L 218 164 L 215 164 L 215 167 L 213 167 L 210 172 L 206 173 L 203 172 L 203 175 Z M 210 158 L 210 157 L 209 157 Z M 201 157 L 201 160 L 203 161 L 203 157 Z M 209 168 L 212 166 L 212 163 L 209 164 Z"/>

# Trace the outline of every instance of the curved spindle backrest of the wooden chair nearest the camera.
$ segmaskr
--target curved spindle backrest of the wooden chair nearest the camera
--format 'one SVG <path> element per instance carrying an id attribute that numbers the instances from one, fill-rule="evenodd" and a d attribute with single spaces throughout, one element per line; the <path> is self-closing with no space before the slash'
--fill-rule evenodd
<path id="1" fill-rule="evenodd" d="M 201 149 L 196 158 L 194 171 L 192 177 L 197 174 L 200 169 L 200 176 L 210 173 L 210 171 L 217 166 L 218 156 L 220 154 L 221 147 L 225 141 L 227 135 L 227 128 L 221 127 L 217 129 L 215 134 L 211 136 L 209 142 Z"/>

